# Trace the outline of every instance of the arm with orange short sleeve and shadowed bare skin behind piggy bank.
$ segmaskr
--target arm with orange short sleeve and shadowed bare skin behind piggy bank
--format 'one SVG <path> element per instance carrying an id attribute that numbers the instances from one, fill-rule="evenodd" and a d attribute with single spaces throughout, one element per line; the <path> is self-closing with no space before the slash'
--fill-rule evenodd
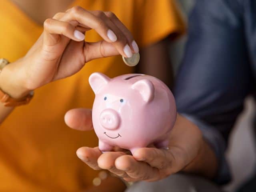
<path id="1" fill-rule="evenodd" d="M 172 88 L 169 46 L 186 32 L 179 6 L 175 0 L 142 0 L 134 8 L 133 34 L 140 46 L 137 72 L 155 76 Z"/>

